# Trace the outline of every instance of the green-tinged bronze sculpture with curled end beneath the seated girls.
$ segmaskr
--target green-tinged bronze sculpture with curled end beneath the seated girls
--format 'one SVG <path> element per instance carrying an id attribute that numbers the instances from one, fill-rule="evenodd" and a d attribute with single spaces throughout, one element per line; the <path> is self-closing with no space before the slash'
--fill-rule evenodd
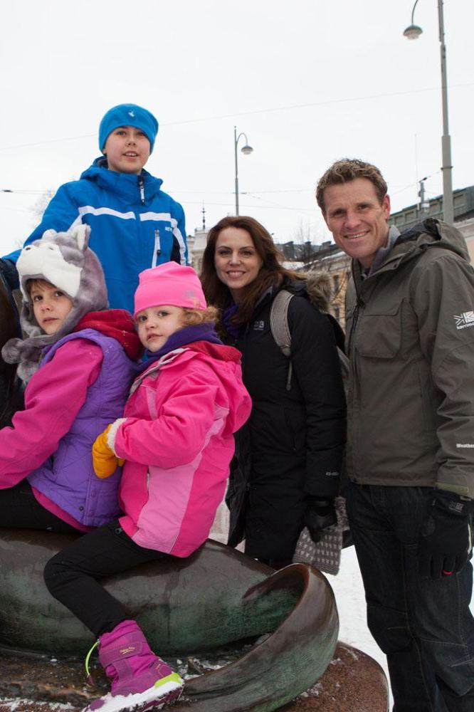
<path id="1" fill-rule="evenodd" d="M 90 632 L 51 598 L 43 567 L 65 535 L 0 530 L 0 644 L 83 655 Z M 269 567 L 212 540 L 104 581 L 158 654 L 190 655 L 270 633 L 235 662 L 186 682 L 175 712 L 270 712 L 315 684 L 334 653 L 338 619 L 325 577 Z"/>

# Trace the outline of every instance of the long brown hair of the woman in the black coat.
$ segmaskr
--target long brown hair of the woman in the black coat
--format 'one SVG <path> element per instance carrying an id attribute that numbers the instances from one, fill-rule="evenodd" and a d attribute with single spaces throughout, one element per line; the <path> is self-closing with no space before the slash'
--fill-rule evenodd
<path id="1" fill-rule="evenodd" d="M 285 278 L 301 279 L 302 276 L 283 267 L 281 264 L 283 254 L 275 246 L 268 230 L 256 219 L 248 216 L 223 218 L 209 231 L 200 275 L 207 303 L 216 305 L 221 309 L 221 313 L 231 304 L 232 297 L 228 287 L 217 276 L 214 255 L 218 236 L 228 227 L 240 228 L 248 232 L 263 263 L 256 279 L 243 290 L 242 298 L 238 303 L 238 312 L 233 318 L 235 323 L 244 324 L 250 320 L 253 309 L 265 290 L 271 286 L 280 286 Z"/>

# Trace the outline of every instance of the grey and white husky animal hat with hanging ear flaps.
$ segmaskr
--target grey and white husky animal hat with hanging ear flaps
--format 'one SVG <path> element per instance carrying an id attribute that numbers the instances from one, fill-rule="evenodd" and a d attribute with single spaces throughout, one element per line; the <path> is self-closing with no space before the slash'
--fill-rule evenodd
<path id="1" fill-rule="evenodd" d="M 70 232 L 47 230 L 41 240 L 23 248 L 16 262 L 22 295 L 20 324 L 24 339 L 11 339 L 1 355 L 8 363 L 19 363 L 18 375 L 28 381 L 39 365 L 43 347 L 69 334 L 90 311 L 107 309 L 104 273 L 95 253 L 88 247 L 90 227 L 78 225 Z M 73 308 L 55 334 L 47 335 L 33 313 L 27 283 L 44 279 L 64 292 Z"/>

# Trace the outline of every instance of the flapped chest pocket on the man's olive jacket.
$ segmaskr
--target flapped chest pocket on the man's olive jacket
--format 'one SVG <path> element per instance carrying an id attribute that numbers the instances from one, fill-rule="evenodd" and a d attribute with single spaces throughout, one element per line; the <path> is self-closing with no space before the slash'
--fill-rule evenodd
<path id="1" fill-rule="evenodd" d="M 359 315 L 354 347 L 361 356 L 394 358 L 401 349 L 401 311 Z"/>

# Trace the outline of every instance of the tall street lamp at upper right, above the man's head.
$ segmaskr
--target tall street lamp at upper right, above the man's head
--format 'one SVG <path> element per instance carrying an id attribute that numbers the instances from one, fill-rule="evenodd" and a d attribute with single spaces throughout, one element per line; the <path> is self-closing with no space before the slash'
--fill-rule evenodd
<path id="1" fill-rule="evenodd" d="M 423 30 L 414 25 L 414 12 L 418 0 L 411 11 L 411 25 L 404 31 L 404 36 L 409 40 L 416 40 Z M 438 25 L 441 49 L 441 100 L 443 103 L 443 136 L 441 137 L 441 150 L 443 155 L 443 219 L 448 224 L 454 222 L 453 208 L 453 166 L 451 165 L 451 136 L 448 128 L 448 83 L 446 78 L 446 44 L 444 43 L 443 0 L 438 0 Z"/>

